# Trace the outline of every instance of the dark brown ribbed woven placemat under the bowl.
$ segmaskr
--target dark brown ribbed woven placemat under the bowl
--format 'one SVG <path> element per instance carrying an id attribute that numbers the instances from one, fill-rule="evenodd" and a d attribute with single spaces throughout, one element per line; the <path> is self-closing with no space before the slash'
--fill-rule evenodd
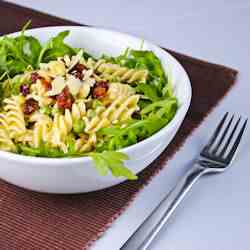
<path id="1" fill-rule="evenodd" d="M 33 27 L 79 25 L 0 1 L 0 33 Z M 167 39 L 167 35 L 166 35 Z M 185 139 L 234 84 L 237 71 L 169 51 L 184 66 L 192 82 L 189 112 L 168 148 L 140 174 L 138 181 L 82 195 L 47 195 L 0 181 L 0 249 L 82 250 L 88 248 L 132 202 Z"/>

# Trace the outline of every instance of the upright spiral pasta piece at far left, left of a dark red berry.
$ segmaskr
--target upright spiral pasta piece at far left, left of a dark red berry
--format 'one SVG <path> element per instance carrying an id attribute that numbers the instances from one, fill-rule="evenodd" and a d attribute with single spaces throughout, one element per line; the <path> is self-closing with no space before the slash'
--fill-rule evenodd
<path id="1" fill-rule="evenodd" d="M 13 96 L 5 99 L 4 103 L 4 111 L 6 111 L 10 138 L 18 140 L 18 137 L 23 135 L 26 131 L 24 114 L 22 111 L 23 98 L 21 96 Z"/>

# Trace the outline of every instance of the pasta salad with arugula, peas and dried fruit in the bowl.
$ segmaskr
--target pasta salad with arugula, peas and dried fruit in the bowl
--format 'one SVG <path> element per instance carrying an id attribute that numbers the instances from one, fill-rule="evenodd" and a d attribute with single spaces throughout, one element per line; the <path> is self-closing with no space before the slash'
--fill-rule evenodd
<path id="1" fill-rule="evenodd" d="M 100 174 L 136 179 L 117 150 L 159 131 L 178 109 L 159 58 L 132 49 L 95 58 L 64 42 L 69 31 L 41 45 L 24 30 L 0 40 L 0 150 L 90 156 Z"/>

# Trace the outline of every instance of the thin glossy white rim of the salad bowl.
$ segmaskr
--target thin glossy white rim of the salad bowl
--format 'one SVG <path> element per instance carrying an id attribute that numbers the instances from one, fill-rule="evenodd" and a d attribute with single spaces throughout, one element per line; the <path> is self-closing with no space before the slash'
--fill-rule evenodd
<path id="1" fill-rule="evenodd" d="M 46 27 L 40 27 L 40 28 L 33 28 L 33 29 L 28 29 L 27 32 L 33 32 L 33 31 L 40 31 L 40 30 L 48 30 L 48 29 L 58 29 L 58 30 L 72 30 L 72 29 L 85 29 L 85 30 L 96 30 L 98 31 L 103 31 L 103 32 L 109 32 L 111 34 L 117 34 L 117 35 L 122 35 L 122 36 L 126 36 L 128 38 L 132 38 L 132 39 L 141 39 L 137 36 L 134 35 L 130 35 L 126 32 L 120 32 L 120 31 L 116 31 L 116 30 L 111 30 L 111 29 L 106 29 L 106 28 L 100 28 L 100 27 L 89 27 L 89 26 L 72 26 L 72 25 L 66 25 L 66 26 L 46 26 Z M 16 36 L 18 34 L 20 34 L 21 31 L 18 32 L 14 32 L 14 33 L 9 33 L 9 34 L 5 34 L 3 36 Z M 59 32 L 59 31 L 58 31 Z M 2 36 L 0 36 L 2 37 Z M 190 103 L 191 103 L 191 97 L 192 97 L 192 87 L 191 87 L 191 82 L 189 79 L 189 76 L 186 72 L 186 70 L 184 69 L 184 67 L 179 63 L 179 61 L 172 56 L 169 52 L 167 52 L 166 50 L 162 49 L 160 46 L 146 40 L 143 39 L 144 44 L 149 45 L 150 47 L 159 50 L 161 53 L 166 54 L 169 58 L 171 58 L 171 60 L 173 60 L 175 62 L 175 64 L 182 70 L 182 73 L 185 77 L 185 84 L 186 84 L 186 88 L 188 90 L 188 92 L 186 93 L 186 96 L 184 98 L 184 102 L 182 104 L 181 107 L 179 107 L 179 109 L 177 110 L 174 118 L 163 128 L 161 128 L 158 132 L 156 132 L 155 134 L 153 134 L 152 136 L 138 142 L 135 143 L 133 145 L 130 145 L 128 147 L 122 148 L 120 150 L 118 150 L 119 152 L 125 153 L 125 154 L 129 154 L 131 153 L 135 147 L 143 147 L 144 145 L 150 143 L 153 140 L 157 140 L 159 138 L 161 138 L 161 136 L 165 133 L 167 133 L 168 131 L 172 130 L 180 120 L 182 120 L 185 116 L 186 113 L 189 109 Z M 184 115 L 183 115 L 184 114 Z M 21 154 L 17 154 L 17 153 L 13 153 L 13 152 L 8 152 L 8 151 L 2 151 L 0 150 L 0 158 L 5 158 L 8 160 L 14 160 L 14 161 L 19 161 L 19 162 L 24 162 L 24 163 L 35 163 L 37 161 L 39 161 L 39 164 L 53 164 L 53 165 L 62 165 L 62 164 L 67 164 L 67 163 L 85 163 L 85 162 L 89 162 L 91 160 L 91 157 L 89 156 L 80 156 L 80 157 L 61 157 L 61 158 L 56 158 L 56 157 L 37 157 L 37 156 L 29 156 L 29 155 L 21 155 Z"/>

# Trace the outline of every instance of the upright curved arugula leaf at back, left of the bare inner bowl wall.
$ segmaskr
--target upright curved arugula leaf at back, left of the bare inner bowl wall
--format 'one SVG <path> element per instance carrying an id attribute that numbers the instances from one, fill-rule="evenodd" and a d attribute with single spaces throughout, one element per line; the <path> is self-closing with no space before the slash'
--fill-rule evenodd
<path id="1" fill-rule="evenodd" d="M 69 35 L 69 31 L 62 31 L 57 36 L 52 37 L 42 48 L 38 57 L 37 65 L 41 62 L 56 60 L 64 55 L 72 56 L 77 50 L 64 43 L 64 39 Z"/>

